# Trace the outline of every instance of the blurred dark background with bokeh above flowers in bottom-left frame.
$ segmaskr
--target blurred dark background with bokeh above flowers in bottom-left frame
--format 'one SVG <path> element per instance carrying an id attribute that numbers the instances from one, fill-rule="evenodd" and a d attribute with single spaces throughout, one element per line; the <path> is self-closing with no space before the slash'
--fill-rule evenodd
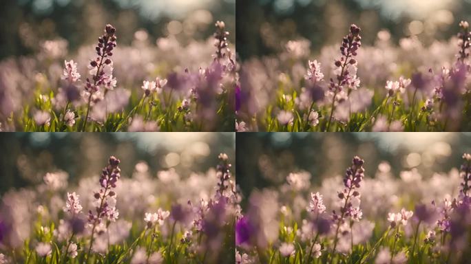
<path id="1" fill-rule="evenodd" d="M 0 196 L 10 188 L 43 182 L 63 170 L 70 185 L 99 175 L 109 156 L 121 159 L 123 177 L 147 162 L 151 175 L 175 168 L 185 178 L 218 164 L 218 154 L 235 160 L 235 133 L 0 133 Z"/>

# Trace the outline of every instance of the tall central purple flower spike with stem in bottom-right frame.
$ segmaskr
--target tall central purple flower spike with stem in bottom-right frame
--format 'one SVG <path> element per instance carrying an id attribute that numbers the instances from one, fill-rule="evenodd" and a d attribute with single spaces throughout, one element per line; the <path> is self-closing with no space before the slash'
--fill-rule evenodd
<path id="1" fill-rule="evenodd" d="M 339 192 L 339 199 L 344 201 L 344 206 L 340 208 L 340 215 L 333 210 L 333 221 L 337 223 L 337 230 L 335 230 L 334 245 L 332 252 L 335 253 L 337 248 L 339 228 L 350 217 L 353 221 L 359 221 L 362 218 L 362 211 L 359 210 L 359 192 L 360 182 L 364 178 L 364 160 L 359 157 L 353 157 L 352 165 L 346 169 L 344 177 L 344 190 Z"/>

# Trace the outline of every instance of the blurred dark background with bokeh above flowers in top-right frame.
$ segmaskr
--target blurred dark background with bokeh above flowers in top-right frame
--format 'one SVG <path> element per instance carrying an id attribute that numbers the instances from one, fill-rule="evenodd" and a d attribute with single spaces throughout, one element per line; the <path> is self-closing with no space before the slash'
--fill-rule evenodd
<path id="1" fill-rule="evenodd" d="M 395 42 L 449 39 L 459 21 L 471 19 L 471 0 L 238 0 L 236 11 L 238 54 L 247 59 L 278 53 L 293 39 L 319 50 L 339 43 L 351 23 L 362 28 L 367 45 L 384 29 Z"/>

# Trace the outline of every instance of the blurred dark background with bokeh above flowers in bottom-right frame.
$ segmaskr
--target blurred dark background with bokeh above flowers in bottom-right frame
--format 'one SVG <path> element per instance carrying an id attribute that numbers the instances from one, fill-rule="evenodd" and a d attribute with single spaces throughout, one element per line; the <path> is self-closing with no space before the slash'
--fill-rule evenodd
<path id="1" fill-rule="evenodd" d="M 237 184 L 244 197 L 253 188 L 281 186 L 292 172 L 311 173 L 311 184 L 343 175 L 353 156 L 365 160 L 366 177 L 386 161 L 392 175 L 417 168 L 423 179 L 459 168 L 471 151 L 471 133 L 237 133 Z M 246 199 L 247 201 L 247 199 Z"/>

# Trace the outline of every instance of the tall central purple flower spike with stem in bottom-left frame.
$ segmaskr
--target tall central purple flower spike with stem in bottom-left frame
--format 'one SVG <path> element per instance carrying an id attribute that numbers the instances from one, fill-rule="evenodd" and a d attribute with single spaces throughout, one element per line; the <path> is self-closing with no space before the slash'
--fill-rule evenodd
<path id="1" fill-rule="evenodd" d="M 116 188 L 116 183 L 121 177 L 121 169 L 118 166 L 119 163 L 120 160 L 116 159 L 116 157 L 109 157 L 108 165 L 103 168 L 101 172 L 101 189 L 94 194 L 94 198 L 98 201 L 99 206 L 95 208 L 96 214 L 94 214 L 92 210 L 88 211 L 88 223 L 92 225 L 92 234 L 90 235 L 90 247 L 88 248 L 86 256 L 87 259 L 90 256 L 90 252 L 92 252 L 96 226 L 102 223 L 103 217 L 107 217 L 108 221 L 115 221 L 118 217 L 118 211 L 114 208 L 113 204 L 116 203 L 116 192 L 112 189 Z M 87 259 L 85 259 L 85 263 Z"/>

